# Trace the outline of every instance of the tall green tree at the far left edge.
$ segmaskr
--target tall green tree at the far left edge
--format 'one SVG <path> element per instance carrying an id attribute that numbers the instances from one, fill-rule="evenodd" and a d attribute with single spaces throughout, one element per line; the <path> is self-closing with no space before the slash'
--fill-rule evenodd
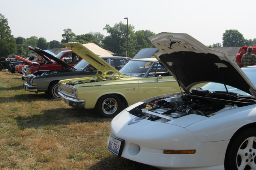
<path id="1" fill-rule="evenodd" d="M 8 20 L 0 13 L 0 57 L 7 58 L 10 54 L 17 53 L 16 41 L 11 35 Z"/>

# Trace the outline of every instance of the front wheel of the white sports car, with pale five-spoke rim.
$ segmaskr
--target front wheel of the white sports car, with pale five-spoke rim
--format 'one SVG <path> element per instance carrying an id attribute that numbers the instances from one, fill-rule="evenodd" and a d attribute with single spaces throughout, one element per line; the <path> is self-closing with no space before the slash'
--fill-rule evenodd
<path id="1" fill-rule="evenodd" d="M 246 129 L 231 142 L 225 156 L 225 170 L 255 170 L 256 129 Z"/>

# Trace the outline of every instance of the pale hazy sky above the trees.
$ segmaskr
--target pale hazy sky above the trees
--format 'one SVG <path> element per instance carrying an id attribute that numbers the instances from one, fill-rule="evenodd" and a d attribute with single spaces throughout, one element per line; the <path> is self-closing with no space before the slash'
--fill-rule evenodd
<path id="1" fill-rule="evenodd" d="M 222 44 L 226 30 L 256 38 L 256 0 L 0 0 L 14 37 L 61 41 L 64 29 L 75 35 L 100 32 L 123 22 L 134 30 L 186 33 L 204 45 Z"/>

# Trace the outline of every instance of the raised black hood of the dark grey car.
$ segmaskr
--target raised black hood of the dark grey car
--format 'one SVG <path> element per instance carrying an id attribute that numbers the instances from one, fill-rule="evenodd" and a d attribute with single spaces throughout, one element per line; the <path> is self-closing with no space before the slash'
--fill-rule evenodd
<path id="1" fill-rule="evenodd" d="M 62 60 L 60 60 L 59 58 L 53 56 L 52 54 L 49 54 L 48 52 L 45 52 L 44 50 L 41 50 L 41 49 L 39 49 L 39 48 L 35 48 L 35 49 L 34 49 L 34 48 L 31 47 L 31 46 L 28 46 L 28 48 L 29 48 L 30 50 L 32 50 L 33 52 L 39 54 L 41 57 L 45 58 L 45 60 L 47 60 L 47 61 L 49 61 L 49 59 L 50 59 L 50 60 L 54 60 L 56 63 L 62 65 L 62 66 L 65 67 L 65 68 L 72 68 L 72 69 L 77 70 L 77 69 L 76 69 L 75 67 L 73 67 L 72 65 L 69 65 L 68 63 L 66 63 L 66 62 L 64 62 L 64 61 L 62 61 Z M 45 57 L 45 56 L 46 56 L 46 57 Z"/>

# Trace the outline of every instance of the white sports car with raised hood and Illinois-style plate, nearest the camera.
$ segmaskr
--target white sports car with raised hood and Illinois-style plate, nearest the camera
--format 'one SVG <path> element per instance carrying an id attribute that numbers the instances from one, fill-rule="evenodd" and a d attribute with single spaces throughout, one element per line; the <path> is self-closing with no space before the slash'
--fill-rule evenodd
<path id="1" fill-rule="evenodd" d="M 184 92 L 120 112 L 111 121 L 108 149 L 163 170 L 256 170 L 256 67 L 240 69 L 188 34 L 149 39 Z"/>

